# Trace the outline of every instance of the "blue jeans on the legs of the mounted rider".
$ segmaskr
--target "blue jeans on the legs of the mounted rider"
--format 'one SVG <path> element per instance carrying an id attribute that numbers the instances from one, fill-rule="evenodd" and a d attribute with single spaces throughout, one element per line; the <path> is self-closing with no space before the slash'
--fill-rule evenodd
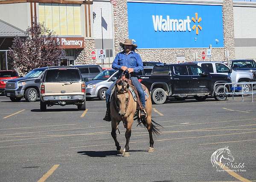
<path id="1" fill-rule="evenodd" d="M 131 81 L 133 82 L 134 86 L 136 87 L 136 89 L 138 91 L 138 94 L 140 96 L 140 101 L 141 101 L 143 107 L 145 108 L 145 106 L 146 106 L 146 104 L 145 104 L 145 94 L 144 94 L 143 88 L 142 88 L 139 80 L 137 79 L 137 77 L 131 77 Z M 115 84 L 116 84 L 116 81 L 114 81 L 112 83 L 112 85 L 108 88 L 108 90 L 106 91 L 106 103 L 110 102 L 109 98 L 110 98 L 110 95 L 111 95 L 111 90 L 115 86 Z"/>

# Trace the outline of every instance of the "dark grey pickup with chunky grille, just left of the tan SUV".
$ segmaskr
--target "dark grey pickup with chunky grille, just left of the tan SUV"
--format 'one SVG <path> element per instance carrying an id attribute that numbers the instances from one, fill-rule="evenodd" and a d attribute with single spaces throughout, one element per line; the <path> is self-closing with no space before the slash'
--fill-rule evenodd
<path id="1" fill-rule="evenodd" d="M 27 102 L 35 102 L 39 97 L 40 83 L 35 83 L 36 79 L 41 79 L 44 71 L 49 67 L 36 68 L 29 71 L 24 77 L 8 80 L 4 94 L 12 102 L 18 102 L 23 97 Z"/>

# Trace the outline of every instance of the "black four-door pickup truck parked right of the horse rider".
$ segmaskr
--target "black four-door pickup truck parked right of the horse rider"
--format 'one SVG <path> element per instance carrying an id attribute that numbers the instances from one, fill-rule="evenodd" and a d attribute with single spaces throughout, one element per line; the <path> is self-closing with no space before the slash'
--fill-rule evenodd
<path id="1" fill-rule="evenodd" d="M 195 64 L 155 65 L 150 76 L 138 76 L 138 79 L 148 88 L 155 104 L 163 104 L 167 97 L 185 100 L 187 96 L 194 96 L 203 101 L 213 96 L 215 100 L 226 100 L 227 95 L 214 93 L 214 85 L 231 82 L 229 76 L 209 74 Z M 226 92 L 229 90 L 228 86 L 225 87 Z M 224 93 L 224 85 L 216 85 L 215 91 Z"/>

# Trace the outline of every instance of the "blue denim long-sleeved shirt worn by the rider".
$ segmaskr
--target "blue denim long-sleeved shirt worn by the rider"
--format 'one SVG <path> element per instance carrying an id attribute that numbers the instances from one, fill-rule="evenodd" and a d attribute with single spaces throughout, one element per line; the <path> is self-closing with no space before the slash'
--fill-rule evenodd
<path id="1" fill-rule="evenodd" d="M 136 73 L 143 71 L 143 63 L 140 55 L 134 51 L 131 51 L 129 54 L 125 54 L 125 51 L 116 54 L 116 58 L 112 63 L 112 68 L 115 70 L 119 70 L 119 76 L 123 73 L 123 71 L 121 70 L 122 66 L 134 69 L 134 72 L 131 73 L 132 77 L 136 76 Z"/>

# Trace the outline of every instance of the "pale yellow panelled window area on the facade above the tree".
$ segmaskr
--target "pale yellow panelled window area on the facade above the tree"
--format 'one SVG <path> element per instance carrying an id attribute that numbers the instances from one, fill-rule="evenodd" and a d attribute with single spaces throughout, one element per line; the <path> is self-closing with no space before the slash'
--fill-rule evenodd
<path id="1" fill-rule="evenodd" d="M 39 22 L 57 35 L 81 35 L 79 4 L 39 3 Z"/>

